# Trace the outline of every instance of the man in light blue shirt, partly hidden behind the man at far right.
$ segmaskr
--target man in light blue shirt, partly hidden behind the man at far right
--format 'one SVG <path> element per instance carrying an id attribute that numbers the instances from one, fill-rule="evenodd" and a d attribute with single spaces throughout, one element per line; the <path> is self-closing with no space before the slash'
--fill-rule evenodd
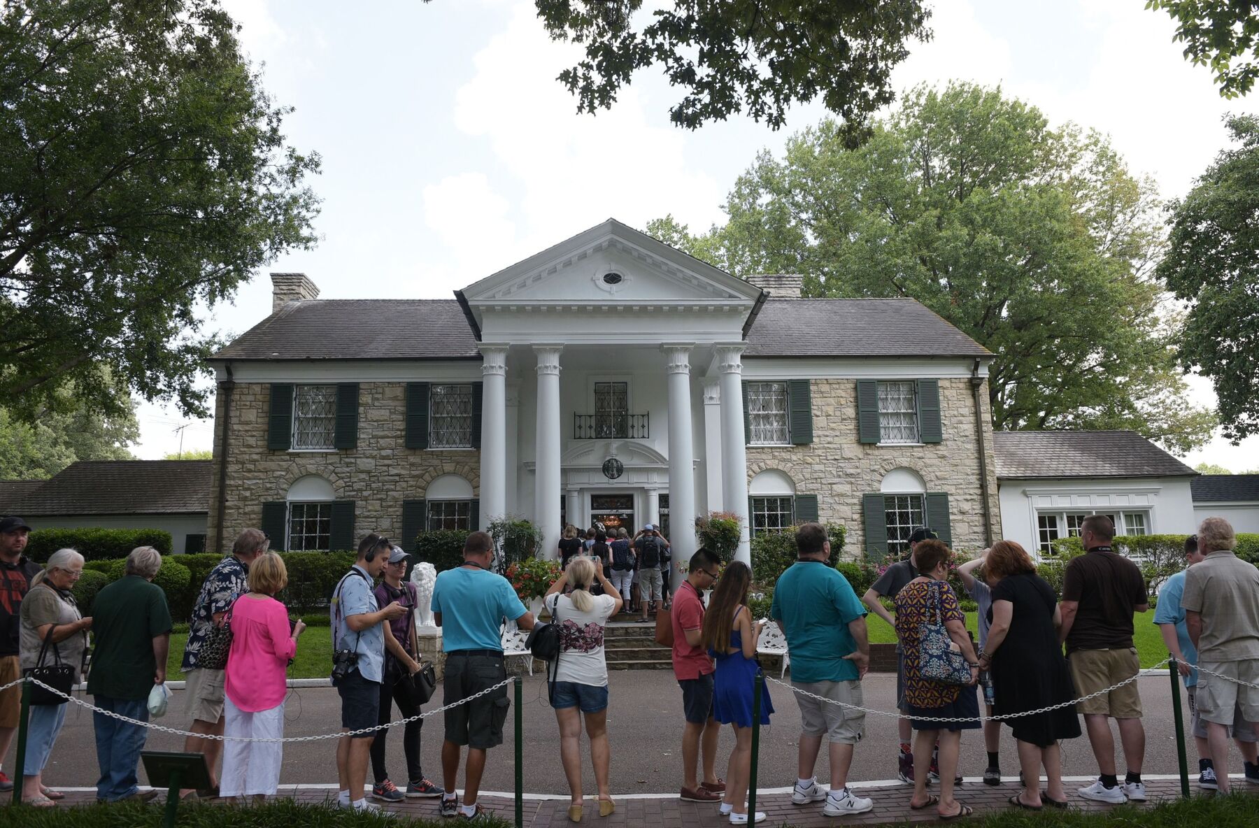
<path id="1" fill-rule="evenodd" d="M 1185 594 L 1185 574 L 1194 564 L 1200 564 L 1206 557 L 1197 549 L 1197 535 L 1185 539 L 1185 569 L 1167 579 L 1163 589 L 1158 593 L 1158 605 L 1155 607 L 1155 623 L 1158 632 L 1163 634 L 1163 643 L 1167 652 L 1176 659 L 1176 668 L 1185 678 L 1185 692 L 1188 695 L 1188 708 L 1194 716 L 1191 730 L 1194 742 L 1197 745 L 1197 786 L 1205 790 L 1217 790 L 1219 783 L 1215 778 L 1215 765 L 1211 761 L 1211 749 L 1206 742 L 1206 722 L 1197 713 L 1197 671 L 1192 668 L 1197 664 L 1197 648 L 1190 641 L 1188 628 L 1185 623 L 1185 608 L 1181 607 L 1181 596 Z M 1238 742 L 1245 763 L 1245 776 L 1248 781 L 1259 781 L 1259 745 L 1256 745 L 1254 729 L 1240 717 L 1233 722 L 1233 739 Z M 1228 773 L 1228 770 L 1225 770 Z"/>

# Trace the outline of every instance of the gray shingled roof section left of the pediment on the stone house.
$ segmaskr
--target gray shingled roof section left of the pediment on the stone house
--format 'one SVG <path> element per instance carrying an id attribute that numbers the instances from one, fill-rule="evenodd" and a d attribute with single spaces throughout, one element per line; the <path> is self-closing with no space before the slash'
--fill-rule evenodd
<path id="1" fill-rule="evenodd" d="M 242 333 L 217 360 L 481 359 L 454 299 L 308 299 Z"/>

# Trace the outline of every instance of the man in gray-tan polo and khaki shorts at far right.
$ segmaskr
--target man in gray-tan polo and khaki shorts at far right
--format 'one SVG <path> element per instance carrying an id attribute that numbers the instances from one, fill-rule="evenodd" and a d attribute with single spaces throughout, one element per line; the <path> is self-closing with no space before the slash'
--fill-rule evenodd
<path id="1" fill-rule="evenodd" d="M 1253 734 L 1259 724 L 1259 690 L 1248 686 L 1259 685 L 1259 570 L 1233 554 L 1236 536 L 1222 517 L 1202 521 L 1197 542 L 1206 557 L 1185 574 L 1181 607 L 1197 647 L 1196 715 L 1206 722 L 1211 763 L 1221 769 L 1217 789 L 1226 794 L 1229 731 Z M 1249 760 L 1245 779 L 1259 783 Z"/>

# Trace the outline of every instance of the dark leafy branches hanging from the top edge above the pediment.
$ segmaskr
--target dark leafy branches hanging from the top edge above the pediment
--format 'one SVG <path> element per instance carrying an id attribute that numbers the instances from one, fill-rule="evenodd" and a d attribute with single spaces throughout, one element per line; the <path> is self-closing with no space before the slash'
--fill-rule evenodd
<path id="1" fill-rule="evenodd" d="M 908 43 L 930 36 L 920 0 L 675 0 L 641 26 L 642 0 L 535 3 L 551 38 L 585 48 L 559 76 L 579 112 L 611 108 L 636 70 L 658 64 L 685 91 L 670 118 L 691 130 L 744 111 L 777 128 L 788 106 L 818 96 L 857 123 L 891 102 Z"/>

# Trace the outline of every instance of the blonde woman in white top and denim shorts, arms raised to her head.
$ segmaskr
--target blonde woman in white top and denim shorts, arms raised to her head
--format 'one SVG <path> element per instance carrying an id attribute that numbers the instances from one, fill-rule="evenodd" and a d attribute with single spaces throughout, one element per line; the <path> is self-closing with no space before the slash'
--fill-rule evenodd
<path id="1" fill-rule="evenodd" d="M 592 595 L 598 580 L 602 595 Z M 564 594 L 565 588 L 572 588 Z M 555 663 L 551 707 L 559 722 L 559 755 L 572 792 L 568 818 L 582 822 L 582 716 L 590 740 L 594 781 L 599 786 L 599 815 L 616 810 L 608 788 L 611 747 L 608 746 L 608 667 L 603 661 L 603 628 L 621 610 L 621 594 L 603 575 L 593 557 L 579 555 L 569 561 L 564 574 L 551 584 L 544 598 L 551 619 L 559 624 L 560 652 Z"/>

